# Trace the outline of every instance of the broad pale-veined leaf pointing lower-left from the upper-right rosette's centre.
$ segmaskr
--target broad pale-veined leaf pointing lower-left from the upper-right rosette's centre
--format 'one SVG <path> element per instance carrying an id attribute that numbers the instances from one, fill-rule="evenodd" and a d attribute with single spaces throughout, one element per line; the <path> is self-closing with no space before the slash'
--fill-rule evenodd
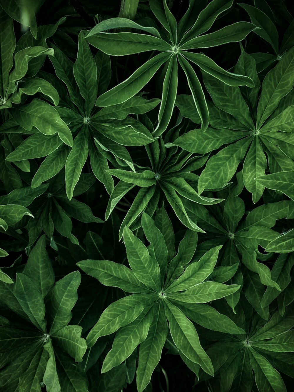
<path id="1" fill-rule="evenodd" d="M 212 156 L 200 174 L 198 194 L 201 194 L 204 189 L 223 187 L 235 174 L 250 142 L 251 138 L 243 138 Z"/>

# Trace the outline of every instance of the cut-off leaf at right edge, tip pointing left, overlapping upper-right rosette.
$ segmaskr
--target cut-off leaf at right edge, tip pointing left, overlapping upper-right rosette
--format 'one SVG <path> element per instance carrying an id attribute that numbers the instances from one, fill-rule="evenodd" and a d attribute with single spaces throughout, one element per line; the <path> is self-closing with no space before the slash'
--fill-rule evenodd
<path id="1" fill-rule="evenodd" d="M 258 176 L 256 177 L 256 182 L 266 188 L 283 192 L 290 199 L 294 200 L 294 171 L 282 171 Z"/>

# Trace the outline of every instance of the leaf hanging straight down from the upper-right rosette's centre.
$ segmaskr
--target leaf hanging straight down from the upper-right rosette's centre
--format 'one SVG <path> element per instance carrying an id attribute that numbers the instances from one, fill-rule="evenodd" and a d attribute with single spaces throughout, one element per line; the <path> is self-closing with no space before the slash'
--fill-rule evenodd
<path id="1" fill-rule="evenodd" d="M 265 174 L 267 168 L 267 159 L 261 147 L 258 137 L 253 139 L 249 151 L 243 164 L 243 181 L 247 191 L 252 193 L 252 201 L 256 203 L 260 200 L 264 186 L 254 180 L 258 176 Z"/>

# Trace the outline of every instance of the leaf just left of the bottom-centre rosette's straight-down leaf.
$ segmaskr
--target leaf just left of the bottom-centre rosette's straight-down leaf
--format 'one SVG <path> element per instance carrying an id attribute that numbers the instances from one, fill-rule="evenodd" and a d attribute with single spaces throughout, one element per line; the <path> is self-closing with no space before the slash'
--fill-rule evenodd
<path id="1" fill-rule="evenodd" d="M 108 372 L 128 358 L 134 349 L 147 337 L 149 327 L 154 318 L 154 307 L 150 306 L 131 323 L 116 332 L 111 350 L 107 353 L 101 372 Z"/>

